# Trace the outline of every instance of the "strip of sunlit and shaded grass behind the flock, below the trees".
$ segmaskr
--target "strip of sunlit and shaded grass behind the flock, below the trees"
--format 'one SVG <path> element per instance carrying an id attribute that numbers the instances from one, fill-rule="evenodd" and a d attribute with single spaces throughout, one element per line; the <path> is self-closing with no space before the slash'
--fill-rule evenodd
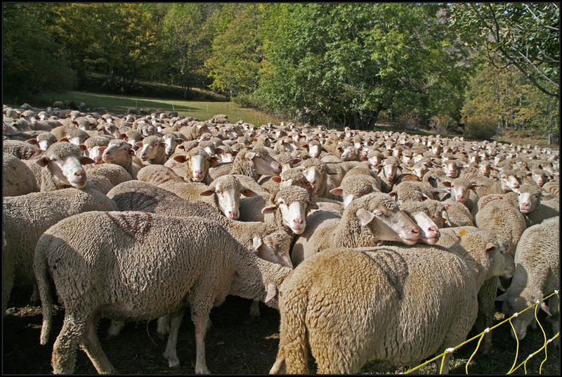
<path id="1" fill-rule="evenodd" d="M 100 94 L 87 91 L 65 91 L 58 94 L 41 94 L 29 102 L 32 106 L 52 106 L 53 101 L 84 102 L 88 108 L 106 108 L 112 113 L 126 113 L 129 108 L 148 108 L 151 111 L 163 110 L 168 113 L 177 111 L 178 115 L 195 117 L 199 120 L 208 120 L 216 114 L 225 114 L 230 122 L 244 120 L 260 126 L 268 122 L 279 124 L 273 115 L 263 113 L 251 108 L 242 108 L 236 103 L 227 101 L 183 101 L 168 98 L 145 98 L 119 94 Z M 22 101 L 19 101 L 22 102 Z"/>

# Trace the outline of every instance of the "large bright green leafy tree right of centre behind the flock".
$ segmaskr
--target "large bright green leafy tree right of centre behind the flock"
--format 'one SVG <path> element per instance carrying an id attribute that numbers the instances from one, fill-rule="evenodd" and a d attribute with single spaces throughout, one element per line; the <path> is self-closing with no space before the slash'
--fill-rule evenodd
<path id="1" fill-rule="evenodd" d="M 438 4 L 276 4 L 270 14 L 256 91 L 266 108 L 369 129 L 381 110 L 424 118 L 430 103 L 455 113 L 462 101 L 465 51 Z"/>

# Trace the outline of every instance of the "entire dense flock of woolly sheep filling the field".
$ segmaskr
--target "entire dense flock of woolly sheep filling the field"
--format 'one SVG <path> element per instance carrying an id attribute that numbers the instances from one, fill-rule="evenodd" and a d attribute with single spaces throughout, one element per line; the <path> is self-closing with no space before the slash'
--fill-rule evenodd
<path id="1" fill-rule="evenodd" d="M 251 316 L 279 309 L 270 373 L 308 373 L 309 351 L 319 373 L 396 369 L 490 327 L 496 300 L 511 315 L 559 288 L 550 148 L 225 115 L 3 113 L 2 309 L 34 286 L 46 344 L 58 298 L 54 373 L 74 371 L 78 346 L 115 373 L 103 317 L 110 336 L 158 318 L 178 366 L 187 308 L 195 373 L 209 373 L 209 312 L 227 295 L 254 300 Z M 540 308 L 558 331 L 558 302 Z"/>

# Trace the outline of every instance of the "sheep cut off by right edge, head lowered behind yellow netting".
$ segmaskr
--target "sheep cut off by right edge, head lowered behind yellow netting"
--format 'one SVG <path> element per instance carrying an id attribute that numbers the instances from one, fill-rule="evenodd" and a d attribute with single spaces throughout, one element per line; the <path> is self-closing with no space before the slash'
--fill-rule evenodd
<path id="1" fill-rule="evenodd" d="M 506 292 L 499 295 L 497 301 L 506 301 L 509 315 L 526 307 L 537 300 L 542 300 L 560 288 L 560 217 L 551 217 L 540 224 L 530 226 L 521 235 L 515 252 L 515 273 L 511 285 Z M 553 296 L 549 302 L 543 301 L 539 307 L 552 319 L 554 333 L 560 331 L 558 319 L 558 302 Z M 527 310 L 514 319 L 511 336 L 518 340 L 525 338 L 527 326 L 534 319 L 532 310 Z M 559 341 L 558 341 L 559 342 Z"/>

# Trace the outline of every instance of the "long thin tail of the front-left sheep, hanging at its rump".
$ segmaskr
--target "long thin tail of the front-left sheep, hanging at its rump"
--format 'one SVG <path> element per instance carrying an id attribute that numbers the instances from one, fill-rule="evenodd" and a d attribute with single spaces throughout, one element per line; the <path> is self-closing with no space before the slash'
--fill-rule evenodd
<path id="1" fill-rule="evenodd" d="M 51 295 L 51 282 L 49 280 L 48 267 L 45 256 L 45 248 L 41 247 L 42 243 L 37 243 L 35 249 L 33 268 L 39 288 L 39 297 L 41 298 L 41 307 L 43 312 L 43 324 L 41 326 L 41 337 L 39 344 L 46 345 L 48 342 L 48 334 L 51 332 L 53 324 L 53 300 Z"/>

